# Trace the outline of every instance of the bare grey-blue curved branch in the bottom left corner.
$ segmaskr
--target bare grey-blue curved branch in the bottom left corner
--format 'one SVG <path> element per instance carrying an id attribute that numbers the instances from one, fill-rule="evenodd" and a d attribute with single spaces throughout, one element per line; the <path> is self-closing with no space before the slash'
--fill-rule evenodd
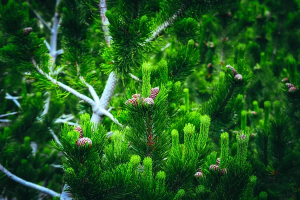
<path id="1" fill-rule="evenodd" d="M 51 189 L 48 189 L 48 188 L 43 187 L 43 186 L 40 186 L 40 185 L 35 184 L 33 182 L 28 182 L 28 181 L 26 181 L 26 180 L 24 180 L 24 179 L 22 179 L 22 178 L 20 178 L 20 177 L 18 177 L 16 175 L 12 174 L 10 171 L 8 171 L 6 168 L 4 168 L 1 164 L 0 164 L 0 171 L 2 171 L 4 174 L 6 174 L 10 179 L 12 179 L 12 180 L 14 180 L 14 181 L 16 181 L 16 182 L 18 182 L 18 183 L 20 183 L 22 185 L 25 185 L 25 186 L 30 187 L 32 189 L 36 189 L 36 190 L 38 190 L 40 192 L 43 192 L 43 193 L 46 193 L 46 194 L 48 194 L 48 195 L 50 195 L 52 197 L 54 197 L 54 196 L 60 196 L 59 193 L 57 193 L 57 192 L 55 192 L 55 191 L 53 191 Z"/>

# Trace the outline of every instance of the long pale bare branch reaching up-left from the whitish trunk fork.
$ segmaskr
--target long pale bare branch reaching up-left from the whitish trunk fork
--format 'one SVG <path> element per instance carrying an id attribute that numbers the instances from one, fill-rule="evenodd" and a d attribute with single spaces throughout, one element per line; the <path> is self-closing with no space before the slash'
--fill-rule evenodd
<path id="1" fill-rule="evenodd" d="M 68 92 L 74 94 L 74 95 L 77 96 L 78 98 L 80 98 L 80 99 L 86 101 L 86 102 L 89 103 L 91 106 L 94 106 L 95 102 L 94 102 L 91 98 L 89 98 L 89 97 L 87 97 L 87 96 L 85 96 L 85 95 L 79 93 L 79 92 L 76 91 L 75 89 L 73 89 L 73 88 L 71 88 L 71 87 L 69 87 L 69 86 L 63 84 L 62 82 L 57 81 L 57 80 L 54 79 L 54 78 L 52 78 L 48 73 L 45 73 L 41 68 L 38 67 L 38 65 L 36 64 L 36 62 L 35 62 L 34 59 L 32 59 L 31 62 L 32 62 L 32 64 L 34 65 L 34 67 L 36 68 L 36 70 L 37 70 L 40 74 L 44 75 L 44 76 L 45 76 L 48 80 L 50 80 L 53 84 L 57 84 L 57 85 L 58 85 L 59 87 L 61 87 L 62 89 L 66 90 L 66 91 L 68 91 Z"/>

